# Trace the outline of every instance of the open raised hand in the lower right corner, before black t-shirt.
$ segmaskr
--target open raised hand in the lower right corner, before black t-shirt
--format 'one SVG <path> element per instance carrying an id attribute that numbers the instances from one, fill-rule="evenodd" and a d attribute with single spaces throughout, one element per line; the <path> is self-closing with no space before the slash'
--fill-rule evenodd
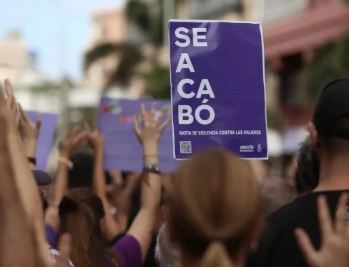
<path id="1" fill-rule="evenodd" d="M 325 197 L 318 197 L 318 220 L 322 243 L 320 250 L 315 250 L 311 239 L 303 229 L 295 230 L 299 248 L 310 267 L 349 266 L 349 224 L 346 220 L 348 199 L 348 193 L 341 195 L 336 218 L 332 222 Z"/>

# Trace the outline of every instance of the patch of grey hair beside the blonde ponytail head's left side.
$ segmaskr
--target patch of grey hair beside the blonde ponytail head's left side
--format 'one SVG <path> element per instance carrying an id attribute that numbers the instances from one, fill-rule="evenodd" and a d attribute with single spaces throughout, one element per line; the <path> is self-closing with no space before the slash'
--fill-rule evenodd
<path id="1" fill-rule="evenodd" d="M 166 237 L 166 224 L 162 224 L 158 231 L 155 247 L 155 256 L 160 267 L 182 267 L 179 259 L 179 250 Z"/>

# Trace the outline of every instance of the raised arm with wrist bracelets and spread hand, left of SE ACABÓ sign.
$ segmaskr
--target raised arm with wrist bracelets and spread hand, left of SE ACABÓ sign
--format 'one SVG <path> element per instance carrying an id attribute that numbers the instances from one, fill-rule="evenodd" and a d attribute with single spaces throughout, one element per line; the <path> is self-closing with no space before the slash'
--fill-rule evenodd
<path id="1" fill-rule="evenodd" d="M 158 169 L 158 141 L 170 119 L 161 124 L 164 111 L 158 119 L 155 119 L 156 103 L 151 106 L 150 112 L 146 112 L 144 105 L 141 107 L 142 129 L 138 121 L 133 117 L 135 134 L 143 148 L 144 179 L 142 181 L 141 206 L 138 215 L 133 221 L 128 234 L 134 236 L 142 250 L 142 261 L 147 256 L 149 244 L 156 227 L 157 216 L 161 202 L 161 175 Z"/>

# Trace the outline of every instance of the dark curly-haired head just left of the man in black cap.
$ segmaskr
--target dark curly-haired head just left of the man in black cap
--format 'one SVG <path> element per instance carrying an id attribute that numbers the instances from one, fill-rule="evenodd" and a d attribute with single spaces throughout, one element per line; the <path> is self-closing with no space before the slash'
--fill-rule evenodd
<path id="1" fill-rule="evenodd" d="M 295 185 L 298 195 L 311 192 L 319 182 L 320 162 L 307 137 L 299 148 Z"/>

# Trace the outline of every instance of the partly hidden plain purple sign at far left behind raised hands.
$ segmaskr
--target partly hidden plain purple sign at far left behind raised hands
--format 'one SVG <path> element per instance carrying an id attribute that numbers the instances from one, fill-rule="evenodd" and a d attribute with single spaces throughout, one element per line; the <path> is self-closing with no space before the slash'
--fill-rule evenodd
<path id="1" fill-rule="evenodd" d="M 33 111 L 29 111 L 27 114 L 34 123 L 36 121 L 36 115 L 40 114 L 42 123 L 38 144 L 36 145 L 36 169 L 46 171 L 47 160 L 52 148 L 54 132 L 56 131 L 58 115 Z"/>

